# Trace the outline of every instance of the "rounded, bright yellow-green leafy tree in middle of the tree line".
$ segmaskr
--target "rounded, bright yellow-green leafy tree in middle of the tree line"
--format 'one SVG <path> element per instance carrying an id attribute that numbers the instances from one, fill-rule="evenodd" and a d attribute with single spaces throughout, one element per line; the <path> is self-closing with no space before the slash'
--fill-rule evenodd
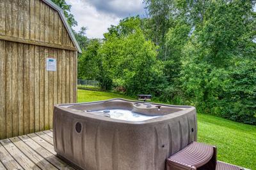
<path id="1" fill-rule="evenodd" d="M 156 60 L 157 48 L 145 39 L 140 23 L 140 18 L 131 17 L 112 26 L 100 49 L 104 76 L 130 95 L 155 93 L 163 74 Z"/>

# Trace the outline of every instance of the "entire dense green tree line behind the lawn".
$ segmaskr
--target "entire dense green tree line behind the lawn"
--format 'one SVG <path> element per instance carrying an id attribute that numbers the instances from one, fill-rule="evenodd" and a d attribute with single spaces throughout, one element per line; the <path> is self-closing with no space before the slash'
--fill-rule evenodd
<path id="1" fill-rule="evenodd" d="M 148 18 L 124 18 L 102 41 L 76 34 L 79 78 L 256 124 L 255 0 L 144 2 Z"/>

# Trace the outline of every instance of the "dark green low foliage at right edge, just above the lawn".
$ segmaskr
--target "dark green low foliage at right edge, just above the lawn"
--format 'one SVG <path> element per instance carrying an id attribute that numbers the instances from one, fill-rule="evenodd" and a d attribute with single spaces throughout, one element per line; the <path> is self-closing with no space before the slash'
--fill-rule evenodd
<path id="1" fill-rule="evenodd" d="M 223 89 L 221 116 L 256 124 L 256 60 L 238 61 L 230 70 L 230 81 Z"/>

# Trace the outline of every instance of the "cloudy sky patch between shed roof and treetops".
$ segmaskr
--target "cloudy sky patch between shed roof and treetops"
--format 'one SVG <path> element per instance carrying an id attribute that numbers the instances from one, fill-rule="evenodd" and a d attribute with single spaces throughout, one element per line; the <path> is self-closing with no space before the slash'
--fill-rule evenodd
<path id="1" fill-rule="evenodd" d="M 88 38 L 103 38 L 111 25 L 125 17 L 145 15 L 143 0 L 66 0 L 77 20 L 76 31 L 87 27 Z"/>

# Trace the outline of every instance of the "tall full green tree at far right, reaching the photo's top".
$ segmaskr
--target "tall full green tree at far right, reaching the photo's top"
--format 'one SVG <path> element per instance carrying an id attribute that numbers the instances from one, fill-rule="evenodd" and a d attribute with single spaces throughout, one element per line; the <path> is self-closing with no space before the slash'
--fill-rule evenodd
<path id="1" fill-rule="evenodd" d="M 255 124 L 253 1 L 196 2 L 180 76 L 186 98 L 204 113 Z"/>

